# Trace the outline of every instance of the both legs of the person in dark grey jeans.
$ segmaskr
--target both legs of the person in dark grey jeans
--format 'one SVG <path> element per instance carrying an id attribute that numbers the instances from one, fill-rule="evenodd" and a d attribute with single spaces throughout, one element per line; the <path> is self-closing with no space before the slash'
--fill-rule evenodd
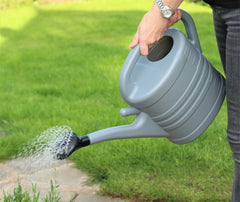
<path id="1" fill-rule="evenodd" d="M 219 52 L 226 74 L 228 141 L 235 161 L 232 201 L 240 201 L 240 9 L 214 8 Z M 225 30 L 224 30 L 225 29 Z"/>

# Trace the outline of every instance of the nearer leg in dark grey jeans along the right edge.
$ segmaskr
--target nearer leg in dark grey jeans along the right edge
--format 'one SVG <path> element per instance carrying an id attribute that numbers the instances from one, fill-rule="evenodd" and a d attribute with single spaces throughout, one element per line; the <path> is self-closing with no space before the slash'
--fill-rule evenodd
<path id="1" fill-rule="evenodd" d="M 240 9 L 235 20 L 232 24 L 229 22 L 226 47 L 227 133 L 235 160 L 233 202 L 240 201 Z"/>

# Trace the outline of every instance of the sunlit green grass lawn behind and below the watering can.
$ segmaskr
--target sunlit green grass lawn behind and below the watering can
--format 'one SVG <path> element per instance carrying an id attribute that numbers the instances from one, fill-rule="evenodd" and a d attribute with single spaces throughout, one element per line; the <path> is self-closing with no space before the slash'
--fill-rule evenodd
<path id="1" fill-rule="evenodd" d="M 0 160 L 49 127 L 80 136 L 131 123 L 118 77 L 128 45 L 152 1 L 89 0 L 0 11 Z M 185 3 L 202 50 L 222 72 L 212 16 Z M 176 25 L 183 30 L 181 23 Z M 229 201 L 233 162 L 226 140 L 226 103 L 196 141 L 164 138 L 104 142 L 75 152 L 78 168 L 102 194 L 136 200 Z"/>

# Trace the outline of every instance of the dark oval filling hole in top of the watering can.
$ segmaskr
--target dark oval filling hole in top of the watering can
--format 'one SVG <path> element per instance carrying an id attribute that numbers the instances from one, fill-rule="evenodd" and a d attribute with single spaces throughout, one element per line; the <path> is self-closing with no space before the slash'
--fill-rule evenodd
<path id="1" fill-rule="evenodd" d="M 152 61 L 158 61 L 164 58 L 172 49 L 173 39 L 170 36 L 163 36 L 150 49 L 147 58 Z"/>

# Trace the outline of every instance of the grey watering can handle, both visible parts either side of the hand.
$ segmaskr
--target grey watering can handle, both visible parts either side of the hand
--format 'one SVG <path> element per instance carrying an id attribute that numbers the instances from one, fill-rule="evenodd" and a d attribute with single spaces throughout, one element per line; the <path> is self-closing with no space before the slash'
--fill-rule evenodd
<path id="1" fill-rule="evenodd" d="M 198 35 L 197 35 L 196 26 L 191 15 L 189 15 L 186 11 L 182 9 L 179 9 L 179 10 L 181 10 L 181 14 L 182 14 L 181 20 L 185 26 L 188 40 L 195 48 L 197 48 L 200 52 L 202 52 Z M 125 68 L 122 68 L 122 71 L 120 73 L 119 87 L 120 87 L 121 95 L 124 100 L 126 100 L 125 99 L 126 94 L 122 93 L 122 89 L 124 89 L 125 91 L 128 90 L 129 92 L 131 92 L 134 88 L 134 84 L 132 84 L 131 82 L 125 82 L 126 80 L 124 78 L 127 78 L 127 81 L 130 81 L 130 75 L 140 55 L 141 55 L 140 45 L 137 44 L 137 46 L 135 46 L 130 51 L 127 59 L 125 60 L 125 63 L 123 64 L 123 67 Z"/>

